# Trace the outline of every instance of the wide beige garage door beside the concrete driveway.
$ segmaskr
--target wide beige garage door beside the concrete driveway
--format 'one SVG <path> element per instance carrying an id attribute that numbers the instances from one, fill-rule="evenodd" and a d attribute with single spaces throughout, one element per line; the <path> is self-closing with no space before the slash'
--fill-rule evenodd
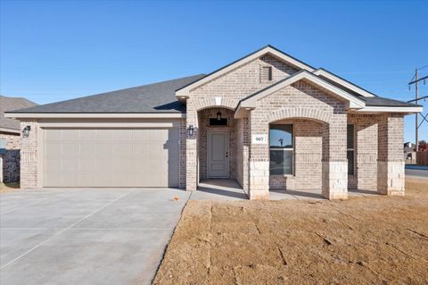
<path id="1" fill-rule="evenodd" d="M 177 128 L 44 130 L 44 187 L 178 187 Z"/>

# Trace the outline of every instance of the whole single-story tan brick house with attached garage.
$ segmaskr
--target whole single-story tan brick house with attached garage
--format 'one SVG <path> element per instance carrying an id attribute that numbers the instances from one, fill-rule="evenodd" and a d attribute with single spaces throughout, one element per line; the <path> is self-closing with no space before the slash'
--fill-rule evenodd
<path id="1" fill-rule="evenodd" d="M 404 195 L 403 117 L 391 100 L 265 46 L 195 75 L 8 113 L 30 127 L 21 187 L 179 187 Z"/>

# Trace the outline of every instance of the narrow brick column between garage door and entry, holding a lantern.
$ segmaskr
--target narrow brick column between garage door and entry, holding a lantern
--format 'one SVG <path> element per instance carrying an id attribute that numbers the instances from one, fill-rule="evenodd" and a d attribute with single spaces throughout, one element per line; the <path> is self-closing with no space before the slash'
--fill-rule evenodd
<path id="1" fill-rule="evenodd" d="M 193 137 L 186 133 L 185 138 L 185 189 L 195 191 L 198 187 L 198 112 L 195 110 L 192 99 L 187 100 L 185 128 L 193 125 Z"/>

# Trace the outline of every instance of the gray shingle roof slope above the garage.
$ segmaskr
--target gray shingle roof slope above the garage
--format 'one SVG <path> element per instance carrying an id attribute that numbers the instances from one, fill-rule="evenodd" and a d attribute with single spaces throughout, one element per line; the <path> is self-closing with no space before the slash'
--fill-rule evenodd
<path id="1" fill-rule="evenodd" d="M 177 101 L 176 90 L 202 77 L 204 74 L 38 105 L 13 113 L 185 113 L 185 105 Z"/>

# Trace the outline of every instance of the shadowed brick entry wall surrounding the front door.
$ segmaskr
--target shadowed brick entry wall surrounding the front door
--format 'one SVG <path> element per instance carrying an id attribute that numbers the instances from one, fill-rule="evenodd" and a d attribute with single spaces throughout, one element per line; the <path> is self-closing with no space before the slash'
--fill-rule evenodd
<path id="1" fill-rule="evenodd" d="M 216 118 L 217 113 L 221 113 L 222 118 L 227 119 L 227 126 L 210 126 L 210 118 Z M 234 111 L 225 108 L 210 108 L 199 112 L 199 172 L 200 179 L 207 178 L 207 151 L 208 141 L 207 132 L 224 130 L 229 136 L 229 178 L 236 177 L 236 129 Z"/>

